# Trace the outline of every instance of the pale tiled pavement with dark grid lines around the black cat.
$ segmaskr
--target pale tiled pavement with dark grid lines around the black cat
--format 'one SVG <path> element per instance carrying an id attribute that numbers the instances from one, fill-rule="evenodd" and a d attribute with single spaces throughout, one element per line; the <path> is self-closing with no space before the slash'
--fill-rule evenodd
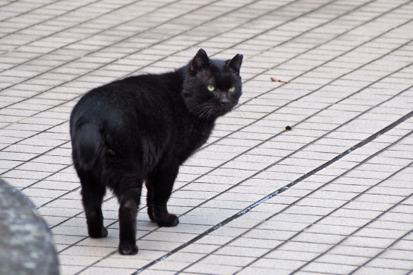
<path id="1" fill-rule="evenodd" d="M 2 0 L 0 27 L 0 177 L 39 207 L 61 274 L 413 274 L 413 1 Z M 244 54 L 242 100 L 180 169 L 180 224 L 142 205 L 120 256 L 111 194 L 109 236 L 87 237 L 70 111 L 200 47 Z"/>

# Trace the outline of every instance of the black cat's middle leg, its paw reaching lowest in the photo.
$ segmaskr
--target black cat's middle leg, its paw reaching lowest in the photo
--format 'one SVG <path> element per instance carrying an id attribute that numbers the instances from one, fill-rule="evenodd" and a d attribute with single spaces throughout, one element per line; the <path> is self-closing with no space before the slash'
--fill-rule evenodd
<path id="1" fill-rule="evenodd" d="M 138 187 L 123 190 L 118 197 L 119 208 L 119 253 L 134 255 L 138 253 L 136 245 L 136 215 L 140 203 L 142 184 Z"/>

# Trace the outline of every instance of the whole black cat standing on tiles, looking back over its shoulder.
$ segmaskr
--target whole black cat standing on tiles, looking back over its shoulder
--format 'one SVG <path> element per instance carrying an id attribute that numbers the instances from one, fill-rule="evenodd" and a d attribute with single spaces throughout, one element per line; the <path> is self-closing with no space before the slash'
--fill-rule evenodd
<path id="1" fill-rule="evenodd" d="M 199 50 L 175 72 L 117 80 L 87 92 L 70 116 L 74 168 L 81 179 L 87 230 L 107 236 L 101 204 L 106 186 L 120 203 L 120 254 L 136 254 L 142 182 L 159 226 L 178 225 L 167 201 L 179 166 L 207 141 L 216 118 L 242 94 L 242 55 L 210 60 Z"/>

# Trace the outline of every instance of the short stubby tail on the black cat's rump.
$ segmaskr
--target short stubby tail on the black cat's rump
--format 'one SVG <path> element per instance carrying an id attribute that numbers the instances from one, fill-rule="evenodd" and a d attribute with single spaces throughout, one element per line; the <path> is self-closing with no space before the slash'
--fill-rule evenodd
<path id="1" fill-rule="evenodd" d="M 96 167 L 103 150 L 103 139 L 99 127 L 85 123 L 77 126 L 71 134 L 72 157 L 76 170 L 92 170 Z"/>

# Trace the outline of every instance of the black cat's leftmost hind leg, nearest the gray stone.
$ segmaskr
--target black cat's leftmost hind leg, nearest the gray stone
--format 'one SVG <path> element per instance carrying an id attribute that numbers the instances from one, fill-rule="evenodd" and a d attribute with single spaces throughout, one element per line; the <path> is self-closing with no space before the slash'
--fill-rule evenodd
<path id="1" fill-rule="evenodd" d="M 92 238 L 104 238 L 107 229 L 103 226 L 102 202 L 106 188 L 93 177 L 92 172 L 78 171 L 82 184 L 82 202 L 85 208 L 87 232 Z"/>

